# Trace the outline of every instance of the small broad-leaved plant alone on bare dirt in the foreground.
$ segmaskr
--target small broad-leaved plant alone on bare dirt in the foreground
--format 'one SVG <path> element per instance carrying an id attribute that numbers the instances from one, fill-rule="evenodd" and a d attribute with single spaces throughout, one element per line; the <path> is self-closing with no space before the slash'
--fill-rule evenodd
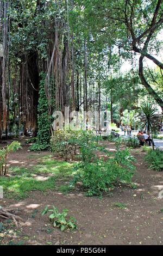
<path id="1" fill-rule="evenodd" d="M 45 215 L 48 212 L 51 214 L 48 216 L 50 221 L 53 221 L 54 228 L 60 228 L 61 231 L 65 229 L 73 230 L 77 228 L 76 218 L 71 216 L 70 220 L 66 221 L 65 217 L 67 216 L 68 209 L 62 210 L 60 213 L 58 209 L 53 206 L 53 209 L 48 209 L 48 206 L 44 210 L 41 211 L 41 215 Z"/>

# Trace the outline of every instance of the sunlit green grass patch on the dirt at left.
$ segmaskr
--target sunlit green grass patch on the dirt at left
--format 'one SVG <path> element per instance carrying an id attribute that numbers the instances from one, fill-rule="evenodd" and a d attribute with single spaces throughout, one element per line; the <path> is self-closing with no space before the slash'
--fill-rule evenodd
<path id="1" fill-rule="evenodd" d="M 41 164 L 29 168 L 10 168 L 11 176 L 1 176 L 4 197 L 23 199 L 28 197 L 30 191 L 57 190 L 57 180 L 69 181 L 74 173 L 73 163 L 59 162 L 49 156 L 41 157 L 40 161 Z M 58 189 L 68 192 L 70 187 L 64 184 Z"/>

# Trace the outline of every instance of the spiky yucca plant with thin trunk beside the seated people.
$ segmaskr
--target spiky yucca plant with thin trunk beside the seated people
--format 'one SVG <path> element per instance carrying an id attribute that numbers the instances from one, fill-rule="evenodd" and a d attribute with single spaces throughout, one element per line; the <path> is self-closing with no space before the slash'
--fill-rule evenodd
<path id="1" fill-rule="evenodd" d="M 141 130 L 145 129 L 148 132 L 148 135 L 151 132 L 153 138 L 153 132 L 156 132 L 160 128 L 162 114 L 158 113 L 158 109 L 154 107 L 150 103 L 146 103 L 145 105 L 141 105 L 142 110 L 142 125 Z M 154 150 L 153 140 L 152 147 Z"/>

